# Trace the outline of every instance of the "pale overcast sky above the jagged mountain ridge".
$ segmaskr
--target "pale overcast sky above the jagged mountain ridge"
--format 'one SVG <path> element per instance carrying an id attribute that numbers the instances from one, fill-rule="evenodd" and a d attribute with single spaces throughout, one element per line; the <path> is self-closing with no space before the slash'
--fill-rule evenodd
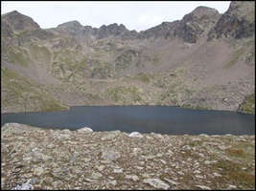
<path id="1" fill-rule="evenodd" d="M 144 31 L 163 21 L 180 20 L 198 6 L 227 11 L 230 1 L 1 1 L 1 14 L 19 11 L 42 28 L 54 28 L 67 21 L 100 28 L 112 23 L 128 30 Z"/>

